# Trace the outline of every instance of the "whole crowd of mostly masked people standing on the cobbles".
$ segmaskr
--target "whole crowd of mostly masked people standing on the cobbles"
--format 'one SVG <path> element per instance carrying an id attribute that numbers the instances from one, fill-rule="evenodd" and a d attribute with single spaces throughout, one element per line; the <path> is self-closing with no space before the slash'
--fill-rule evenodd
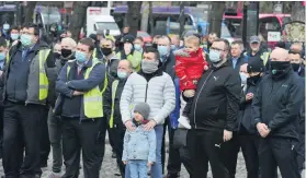
<path id="1" fill-rule="evenodd" d="M 0 157 L 4 178 L 99 178 L 105 137 L 123 178 L 301 178 L 305 162 L 303 46 L 269 52 L 192 33 L 98 31 L 46 41 L 35 24 L 2 26 Z M 167 132 L 168 130 L 168 132 Z M 168 133 L 168 134 L 167 134 Z M 166 150 L 166 138 L 169 147 Z M 168 165 L 166 154 L 169 153 Z M 82 163 L 81 157 L 82 156 Z M 65 165 L 65 169 L 63 169 Z M 116 167 L 114 166 L 114 169 Z"/>

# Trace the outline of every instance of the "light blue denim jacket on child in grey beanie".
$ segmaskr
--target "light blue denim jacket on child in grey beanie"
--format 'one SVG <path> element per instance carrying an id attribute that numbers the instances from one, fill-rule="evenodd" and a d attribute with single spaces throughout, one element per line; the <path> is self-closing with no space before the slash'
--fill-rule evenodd
<path id="1" fill-rule="evenodd" d="M 155 130 L 145 131 L 144 124 L 135 131 L 126 130 L 124 135 L 122 161 L 156 162 L 156 133 Z"/>

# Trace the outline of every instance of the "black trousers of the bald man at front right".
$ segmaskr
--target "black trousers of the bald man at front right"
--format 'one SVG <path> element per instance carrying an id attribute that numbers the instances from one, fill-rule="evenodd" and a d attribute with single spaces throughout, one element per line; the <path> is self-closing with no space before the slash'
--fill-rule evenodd
<path id="1" fill-rule="evenodd" d="M 301 178 L 297 167 L 298 142 L 288 138 L 260 138 L 259 165 L 261 178 L 276 177 L 280 168 L 282 178 Z"/>

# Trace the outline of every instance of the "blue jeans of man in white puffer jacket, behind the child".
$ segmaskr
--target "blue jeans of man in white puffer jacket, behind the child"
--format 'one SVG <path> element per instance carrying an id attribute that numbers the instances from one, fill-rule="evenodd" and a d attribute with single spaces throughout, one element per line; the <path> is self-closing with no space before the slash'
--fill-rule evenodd
<path id="1" fill-rule="evenodd" d="M 162 143 L 162 133 L 163 133 L 163 126 L 158 124 L 155 127 L 156 133 L 156 162 L 151 167 L 151 177 L 152 178 L 162 178 L 162 166 L 161 166 L 161 143 Z M 129 164 L 125 166 L 125 178 L 132 178 L 131 176 Z"/>

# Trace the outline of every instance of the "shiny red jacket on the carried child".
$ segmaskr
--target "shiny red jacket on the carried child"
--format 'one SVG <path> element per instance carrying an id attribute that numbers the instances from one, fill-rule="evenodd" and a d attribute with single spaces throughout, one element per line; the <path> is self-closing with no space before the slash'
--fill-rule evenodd
<path id="1" fill-rule="evenodd" d="M 195 90 L 196 82 L 202 76 L 204 68 L 208 67 L 202 48 L 195 52 L 188 52 L 184 49 L 174 51 L 175 73 L 180 79 L 180 90 Z"/>

